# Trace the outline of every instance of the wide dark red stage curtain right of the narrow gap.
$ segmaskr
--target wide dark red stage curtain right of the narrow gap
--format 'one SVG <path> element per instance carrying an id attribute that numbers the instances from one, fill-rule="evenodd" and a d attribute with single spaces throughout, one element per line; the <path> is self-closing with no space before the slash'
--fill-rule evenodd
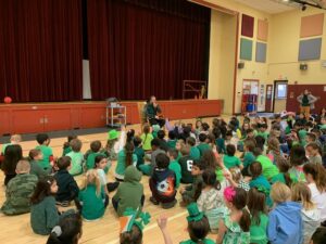
<path id="1" fill-rule="evenodd" d="M 180 99 L 183 80 L 206 80 L 210 14 L 186 0 L 88 0 L 92 99 Z"/>

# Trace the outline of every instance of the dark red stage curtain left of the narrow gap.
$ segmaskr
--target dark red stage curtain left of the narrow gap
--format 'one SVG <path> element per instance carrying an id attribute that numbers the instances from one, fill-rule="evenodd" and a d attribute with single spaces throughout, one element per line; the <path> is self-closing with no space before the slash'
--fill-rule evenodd
<path id="1" fill-rule="evenodd" d="M 80 8 L 80 0 L 0 1 L 0 98 L 82 100 Z"/>

